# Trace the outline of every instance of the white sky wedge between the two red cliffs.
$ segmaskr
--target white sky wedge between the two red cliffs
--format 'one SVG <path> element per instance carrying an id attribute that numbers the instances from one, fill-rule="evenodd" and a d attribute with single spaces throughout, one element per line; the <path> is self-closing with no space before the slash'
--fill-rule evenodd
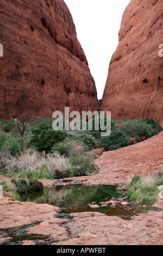
<path id="1" fill-rule="evenodd" d="M 118 45 L 123 11 L 130 0 L 65 0 L 102 99 L 109 63 Z"/>

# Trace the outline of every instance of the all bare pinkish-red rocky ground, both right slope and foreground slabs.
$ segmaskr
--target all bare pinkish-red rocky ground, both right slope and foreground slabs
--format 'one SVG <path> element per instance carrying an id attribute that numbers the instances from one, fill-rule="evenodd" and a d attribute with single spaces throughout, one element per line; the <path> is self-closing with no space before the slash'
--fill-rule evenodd
<path id="1" fill-rule="evenodd" d="M 162 137 L 163 132 L 139 144 L 104 153 L 95 160 L 100 168 L 96 175 L 69 181 L 43 180 L 43 185 L 77 182 L 85 185 L 122 184 L 135 175 L 155 173 L 163 164 Z M 12 243 L 13 236 L 22 234 L 26 238 L 18 241 L 21 245 L 162 245 L 163 199 L 153 207 L 160 210 L 139 214 L 130 221 L 98 212 L 58 218 L 59 208 L 55 206 L 12 202 L 5 197 L 0 199 L 0 244 Z"/>

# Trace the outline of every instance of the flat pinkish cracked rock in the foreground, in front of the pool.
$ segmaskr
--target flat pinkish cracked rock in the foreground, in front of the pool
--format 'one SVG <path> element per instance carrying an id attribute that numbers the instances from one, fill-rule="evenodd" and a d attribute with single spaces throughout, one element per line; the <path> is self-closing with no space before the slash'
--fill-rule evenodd
<path id="1" fill-rule="evenodd" d="M 25 229 L 27 236 L 48 236 L 51 245 L 162 245 L 163 242 L 162 211 L 149 211 L 130 221 L 99 212 L 74 213 L 70 214 L 72 219 L 58 219 L 53 217 L 57 208 L 52 205 L 11 203 L 9 199 L 0 199 L 0 202 L 3 202 L 0 206 L 1 230 L 39 221 L 39 224 Z M 161 199 L 158 205 L 162 207 Z M 12 237 L 0 232 L 0 244 L 10 240 Z M 39 242 L 45 244 L 43 240 L 24 240 L 22 245 Z"/>

